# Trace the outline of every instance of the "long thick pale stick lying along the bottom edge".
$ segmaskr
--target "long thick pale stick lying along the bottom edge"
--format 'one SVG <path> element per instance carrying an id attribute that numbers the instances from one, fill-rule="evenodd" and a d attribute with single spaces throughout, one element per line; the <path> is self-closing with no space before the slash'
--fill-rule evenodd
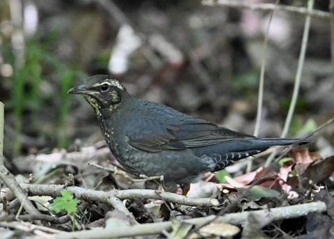
<path id="1" fill-rule="evenodd" d="M 267 218 L 271 220 L 286 219 L 286 218 L 296 218 L 308 215 L 312 212 L 325 212 L 327 210 L 326 204 L 324 202 L 312 202 L 305 203 L 295 206 L 287 206 L 281 208 L 271 208 L 270 210 L 257 210 L 257 211 L 247 211 L 243 213 L 230 213 L 222 217 L 218 217 L 218 222 L 224 222 L 229 224 L 241 224 L 246 221 L 249 215 L 253 215 L 257 218 Z M 195 226 L 200 226 L 202 224 L 207 224 L 214 219 L 214 216 L 209 217 L 198 217 L 193 219 L 186 219 L 182 222 L 194 224 Z M 270 220 L 268 220 L 270 222 Z M 123 226 L 124 225 L 124 226 Z M 150 224 L 139 224 L 135 226 L 127 226 L 126 224 L 108 224 L 106 228 L 92 229 L 90 231 L 75 231 L 72 233 L 60 233 L 56 238 L 70 239 L 70 238 L 125 238 L 132 236 L 144 236 L 159 234 L 162 231 L 170 231 L 172 222 L 157 222 Z"/>

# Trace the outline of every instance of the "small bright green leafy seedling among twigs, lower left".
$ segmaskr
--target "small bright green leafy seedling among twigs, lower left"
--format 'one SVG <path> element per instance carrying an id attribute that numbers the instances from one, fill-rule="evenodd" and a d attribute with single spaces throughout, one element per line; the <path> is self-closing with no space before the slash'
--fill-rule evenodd
<path id="1" fill-rule="evenodd" d="M 61 196 L 56 197 L 53 203 L 50 203 L 49 208 L 55 213 L 60 213 L 62 210 L 67 212 L 67 215 L 72 216 L 72 231 L 75 231 L 75 212 L 77 211 L 78 199 L 74 199 L 73 195 L 67 190 L 61 191 Z"/>

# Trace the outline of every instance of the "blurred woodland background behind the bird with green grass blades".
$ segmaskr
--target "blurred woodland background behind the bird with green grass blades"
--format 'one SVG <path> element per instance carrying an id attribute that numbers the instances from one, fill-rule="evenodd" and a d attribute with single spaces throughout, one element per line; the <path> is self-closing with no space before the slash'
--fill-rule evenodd
<path id="1" fill-rule="evenodd" d="M 273 3 L 273 1 L 249 1 Z M 280 1 L 303 6 L 306 1 Z M 315 8 L 328 11 L 329 2 Z M 0 0 L 0 101 L 4 155 L 102 140 L 93 109 L 67 95 L 110 74 L 138 98 L 253 134 L 264 36 L 271 12 L 201 1 Z M 292 96 L 305 16 L 277 11 L 270 24 L 260 137 L 279 137 Z M 289 137 L 334 116 L 329 20 L 312 18 Z M 333 153 L 333 126 L 317 134 Z"/>

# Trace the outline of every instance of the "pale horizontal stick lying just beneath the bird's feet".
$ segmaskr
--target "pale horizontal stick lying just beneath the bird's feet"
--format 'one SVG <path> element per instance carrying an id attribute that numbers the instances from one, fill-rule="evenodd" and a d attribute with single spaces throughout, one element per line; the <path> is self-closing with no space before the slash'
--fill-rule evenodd
<path id="1" fill-rule="evenodd" d="M 21 187 L 29 193 L 29 196 L 60 196 L 63 185 L 30 185 L 21 184 Z M 171 192 L 159 192 L 156 190 L 111 190 L 109 192 L 88 190 L 82 187 L 67 187 L 66 190 L 75 194 L 77 198 L 88 201 L 103 201 L 110 203 L 109 198 L 116 196 L 118 199 L 161 199 L 163 197 L 166 201 L 173 203 L 180 203 L 187 206 L 218 206 L 217 199 L 195 199 L 182 196 Z M 10 191 L 3 189 L 6 192 L 8 200 L 13 199 L 13 194 Z"/>

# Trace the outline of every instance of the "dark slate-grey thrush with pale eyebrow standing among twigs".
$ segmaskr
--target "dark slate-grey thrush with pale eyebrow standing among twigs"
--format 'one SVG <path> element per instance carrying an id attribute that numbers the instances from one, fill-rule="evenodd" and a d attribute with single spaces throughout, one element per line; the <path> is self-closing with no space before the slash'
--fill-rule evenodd
<path id="1" fill-rule="evenodd" d="M 310 140 L 259 138 L 166 105 L 135 98 L 117 79 L 94 75 L 68 93 L 84 95 L 116 160 L 134 176 L 163 176 L 169 190 L 197 183 L 271 146 Z"/>

